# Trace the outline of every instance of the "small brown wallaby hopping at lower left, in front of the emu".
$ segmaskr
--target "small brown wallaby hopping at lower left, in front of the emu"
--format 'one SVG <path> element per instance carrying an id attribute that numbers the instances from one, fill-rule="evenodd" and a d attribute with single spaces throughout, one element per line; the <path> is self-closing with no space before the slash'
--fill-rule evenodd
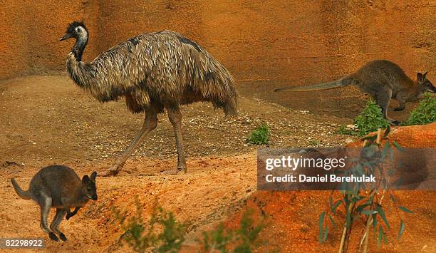
<path id="1" fill-rule="evenodd" d="M 41 207 L 41 229 L 48 233 L 48 237 L 58 241 L 58 234 L 61 240 L 66 241 L 65 234 L 59 231 L 59 224 L 66 213 L 68 220 L 88 200 L 97 200 L 96 176 L 97 172 L 93 172 L 90 176 L 84 175 L 81 180 L 71 168 L 52 165 L 43 167 L 33 176 L 27 191 L 22 190 L 14 178 L 11 178 L 11 182 L 19 197 L 32 199 Z M 51 207 L 56 208 L 56 215 L 48 228 L 47 219 Z M 70 212 L 72 207 L 76 209 Z"/>

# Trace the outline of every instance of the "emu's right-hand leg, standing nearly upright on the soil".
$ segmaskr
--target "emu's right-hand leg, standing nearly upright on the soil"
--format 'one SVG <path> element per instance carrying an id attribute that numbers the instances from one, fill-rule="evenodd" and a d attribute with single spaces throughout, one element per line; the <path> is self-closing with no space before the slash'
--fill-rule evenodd
<path id="1" fill-rule="evenodd" d="M 182 138 L 182 113 L 180 113 L 180 108 L 177 109 L 167 109 L 168 118 L 174 129 L 174 135 L 177 145 L 177 169 L 173 174 L 177 174 L 179 171 L 187 171 L 185 151 L 183 150 L 183 138 Z"/>

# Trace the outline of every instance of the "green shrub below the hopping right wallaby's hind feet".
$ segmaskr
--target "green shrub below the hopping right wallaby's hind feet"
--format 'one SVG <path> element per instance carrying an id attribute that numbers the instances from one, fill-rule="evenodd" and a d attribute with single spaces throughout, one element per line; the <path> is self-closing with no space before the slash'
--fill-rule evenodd
<path id="1" fill-rule="evenodd" d="M 354 124 L 357 125 L 360 136 L 374 132 L 378 128 L 387 128 L 389 125 L 380 106 L 373 99 L 368 100 L 365 109 L 354 119 Z"/>

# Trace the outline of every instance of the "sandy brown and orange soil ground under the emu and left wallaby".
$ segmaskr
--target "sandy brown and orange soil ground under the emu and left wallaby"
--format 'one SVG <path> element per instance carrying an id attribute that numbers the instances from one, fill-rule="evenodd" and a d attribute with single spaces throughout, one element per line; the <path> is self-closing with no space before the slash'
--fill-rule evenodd
<path id="1" fill-rule="evenodd" d="M 130 114 L 123 102 L 97 103 L 65 76 L 8 81 L 0 84 L 0 95 L 0 197 L 4 200 L 0 203 L 0 237 L 46 237 L 39 228 L 38 207 L 19 199 L 9 179 L 16 177 L 26 188 L 41 167 L 52 164 L 71 166 L 78 175 L 105 170 L 140 128 L 143 115 Z M 311 115 L 252 98 L 242 98 L 239 108 L 239 116 L 234 118 L 224 118 L 221 111 L 202 103 L 183 108 L 188 173 L 182 175 L 160 173 L 176 165 L 172 128 L 161 115 L 157 130 L 120 175 L 97 178 L 98 201 L 88 203 L 76 217 L 61 224 L 69 241 L 47 240 L 46 251 L 127 251 L 120 243 L 121 231 L 113 222 L 111 208 L 133 212 L 137 195 L 146 215 L 157 200 L 178 220 L 190 223 L 185 245 L 190 252 L 196 249 L 195 238 L 201 231 L 227 217 L 232 223 L 232 215 L 246 205 L 246 200 L 253 202 L 250 196 L 261 194 L 255 191 L 259 147 L 245 143 L 257 125 L 264 122 L 270 126 L 271 147 L 333 147 L 350 140 L 335 133 L 339 124 L 351 121 L 345 118 Z M 284 252 L 308 247 L 336 249 L 334 243 L 319 246 L 317 242 L 316 224 L 321 205 L 327 203 L 323 198 L 326 194 L 293 192 L 295 197 L 286 199 L 277 194 L 271 202 L 281 209 L 271 210 L 271 215 L 282 215 L 292 222 L 267 228 L 264 238 Z M 399 246 L 389 244 L 385 251 L 396 252 L 402 247 L 435 251 L 430 233 L 435 227 L 434 197 L 425 192 L 402 195 L 402 200 L 413 201 L 415 220 L 406 228 L 406 239 Z M 281 241 L 283 232 L 295 233 L 295 240 Z"/>

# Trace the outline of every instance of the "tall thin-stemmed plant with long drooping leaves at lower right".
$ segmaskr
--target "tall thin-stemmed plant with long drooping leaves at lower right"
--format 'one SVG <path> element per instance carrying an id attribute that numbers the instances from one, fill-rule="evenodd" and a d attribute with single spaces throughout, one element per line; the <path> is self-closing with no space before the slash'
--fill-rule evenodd
<path id="1" fill-rule="evenodd" d="M 383 137 L 381 136 L 381 130 L 379 130 L 378 135 L 363 138 L 365 145 L 362 150 L 360 150 L 360 157 L 352 159 L 353 163 L 350 170 L 341 172 L 341 174 L 345 174 L 345 176 L 354 175 L 355 177 L 378 174 L 380 179 L 378 179 L 377 183 L 367 183 L 366 187 L 362 182 L 343 182 L 340 188 L 343 192 L 342 199 L 334 200 L 333 197 L 330 197 L 328 210 L 321 212 L 318 223 L 319 242 L 326 242 L 329 229 L 331 227 L 338 227 L 337 224 L 339 222 L 335 220 L 340 216 L 337 215 L 337 213 L 342 212 L 342 210 L 338 211 L 338 207 L 341 205 L 343 206 L 344 212 L 342 216 L 345 218 L 343 220 L 343 232 L 339 252 L 347 251 L 353 222 L 360 217 L 365 217 L 366 227 L 362 236 L 363 238 L 360 240 L 359 252 L 362 246 L 363 252 L 368 252 L 368 238 L 371 225 L 373 227 L 373 233 L 375 237 L 377 237 L 378 245 L 380 245 L 381 242 L 388 242 L 383 228 L 390 229 L 390 224 L 383 210 L 382 200 L 385 195 L 385 189 L 388 186 L 389 177 L 393 173 L 393 168 L 390 167 L 390 161 L 393 160 L 393 148 L 390 146 L 389 142 L 386 142 L 384 146 L 381 145 L 380 140 L 386 138 L 389 131 L 390 128 L 388 127 Z M 393 145 L 397 150 L 403 150 L 398 143 L 393 142 Z M 368 189 L 368 186 L 370 191 L 365 193 L 363 189 Z M 380 192 L 381 194 L 376 195 L 376 193 Z M 392 193 L 390 193 L 390 199 L 393 201 L 394 205 L 398 206 Z M 398 206 L 398 209 L 406 213 L 411 213 L 410 210 L 402 206 Z M 404 229 L 405 224 L 403 220 L 400 220 L 398 238 L 401 237 Z"/>

